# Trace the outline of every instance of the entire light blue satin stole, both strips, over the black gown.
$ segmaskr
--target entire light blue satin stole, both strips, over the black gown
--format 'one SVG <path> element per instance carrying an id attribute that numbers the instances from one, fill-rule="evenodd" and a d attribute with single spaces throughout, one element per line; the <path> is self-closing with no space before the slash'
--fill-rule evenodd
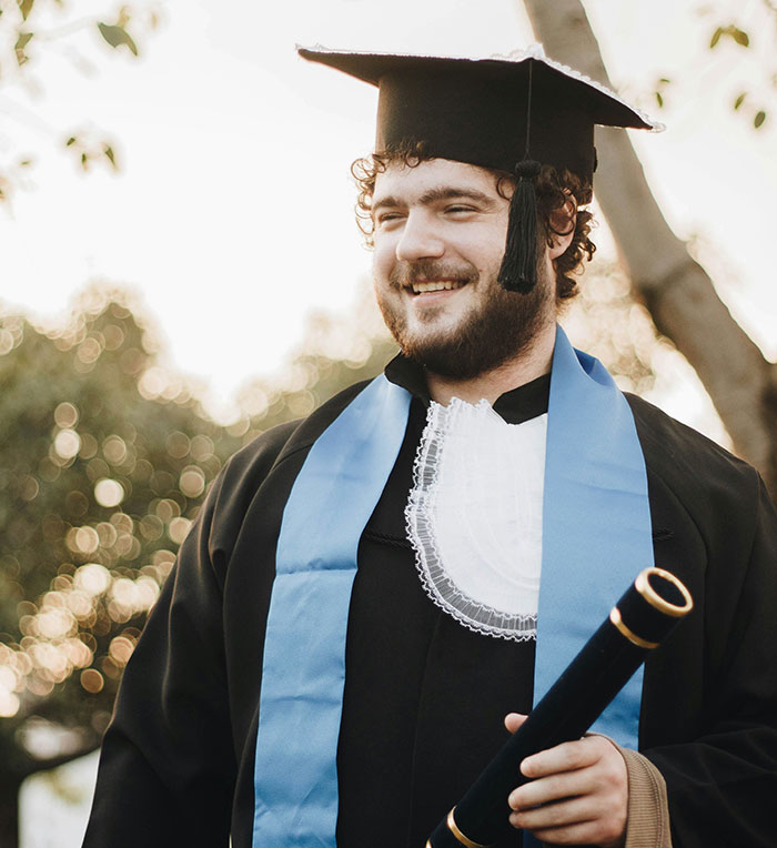
<path id="1" fill-rule="evenodd" d="M 334 848 L 336 754 L 356 552 L 405 434 L 408 393 L 374 380 L 311 448 L 283 514 L 268 615 L 254 848 Z M 551 376 L 535 701 L 653 564 L 630 408 L 558 327 Z M 642 677 L 594 726 L 636 748 Z"/>

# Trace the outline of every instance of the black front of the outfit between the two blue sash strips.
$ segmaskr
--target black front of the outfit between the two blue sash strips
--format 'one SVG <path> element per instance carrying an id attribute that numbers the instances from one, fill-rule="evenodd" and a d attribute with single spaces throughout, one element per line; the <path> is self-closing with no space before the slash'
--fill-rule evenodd
<path id="1" fill-rule="evenodd" d="M 423 848 L 507 738 L 504 716 L 532 706 L 534 639 L 475 633 L 424 592 L 404 509 L 430 403 L 421 367 L 397 356 L 386 377 L 413 395 L 405 438 L 359 549 L 337 756 L 339 848 Z M 493 405 L 511 424 L 547 411 L 549 374 Z M 505 816 L 506 799 L 505 799 Z M 500 844 L 519 845 L 517 832 Z"/>

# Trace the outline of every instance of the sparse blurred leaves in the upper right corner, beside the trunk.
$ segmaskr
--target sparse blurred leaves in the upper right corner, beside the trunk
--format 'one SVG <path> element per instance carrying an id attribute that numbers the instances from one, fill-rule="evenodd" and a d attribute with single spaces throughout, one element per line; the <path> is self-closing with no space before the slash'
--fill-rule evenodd
<path id="1" fill-rule="evenodd" d="M 699 4 L 697 13 L 714 21 L 702 30 L 708 39 L 707 47 L 718 61 L 733 69 L 730 78 L 737 78 L 733 111 L 759 130 L 777 105 L 777 2 L 754 0 L 735 4 L 730 0 L 715 0 Z M 753 54 L 755 72 L 743 73 L 745 63 L 738 55 L 741 50 Z M 655 85 L 659 109 L 665 105 L 670 84 L 669 78 L 662 77 Z"/>

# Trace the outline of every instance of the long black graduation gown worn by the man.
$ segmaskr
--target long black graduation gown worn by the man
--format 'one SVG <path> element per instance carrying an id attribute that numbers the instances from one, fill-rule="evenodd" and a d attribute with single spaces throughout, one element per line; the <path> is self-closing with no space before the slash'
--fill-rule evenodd
<path id="1" fill-rule="evenodd" d="M 337 748 L 339 848 L 422 848 L 506 738 L 504 715 L 532 705 L 534 643 L 474 633 L 421 586 L 403 513 L 427 396 L 402 360 L 386 375 L 414 398 L 359 547 Z M 230 834 L 234 848 L 252 845 L 281 517 L 311 445 L 363 387 L 264 433 L 212 486 L 127 667 L 87 848 L 216 848 Z M 494 408 L 518 423 L 547 408 L 547 391 L 541 377 Z M 774 848 L 777 515 L 751 467 L 645 401 L 628 401 L 646 460 L 656 565 L 695 600 L 647 660 L 639 748 L 665 777 L 677 848 Z M 500 848 L 519 844 L 516 834 Z"/>

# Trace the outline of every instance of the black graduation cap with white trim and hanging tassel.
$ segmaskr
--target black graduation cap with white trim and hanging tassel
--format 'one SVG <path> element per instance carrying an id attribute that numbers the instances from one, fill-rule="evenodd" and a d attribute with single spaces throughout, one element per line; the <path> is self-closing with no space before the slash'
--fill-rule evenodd
<path id="1" fill-rule="evenodd" d="M 297 50 L 377 87 L 375 152 L 421 142 L 430 157 L 515 174 L 500 271 L 513 291 L 531 291 L 536 282 L 541 165 L 567 168 L 591 184 L 595 124 L 663 129 L 604 85 L 547 59 L 539 44 L 488 59 Z"/>

